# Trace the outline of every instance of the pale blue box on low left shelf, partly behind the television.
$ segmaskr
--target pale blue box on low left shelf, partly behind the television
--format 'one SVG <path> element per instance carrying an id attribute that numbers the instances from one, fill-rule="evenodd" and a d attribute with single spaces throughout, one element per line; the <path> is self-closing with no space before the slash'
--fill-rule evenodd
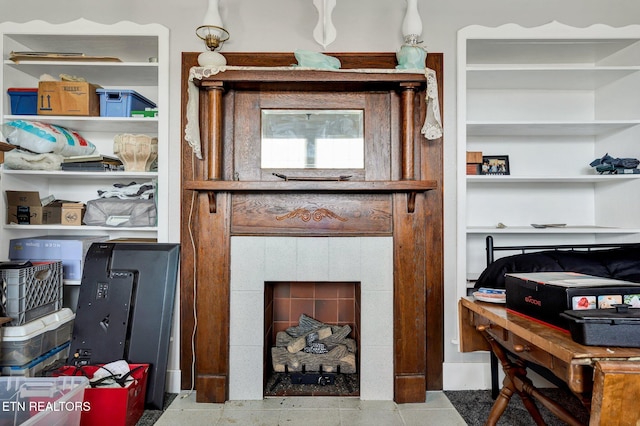
<path id="1" fill-rule="evenodd" d="M 65 280 L 82 279 L 84 258 L 91 244 L 107 241 L 107 235 L 43 235 L 9 241 L 9 259 L 61 260 Z"/>

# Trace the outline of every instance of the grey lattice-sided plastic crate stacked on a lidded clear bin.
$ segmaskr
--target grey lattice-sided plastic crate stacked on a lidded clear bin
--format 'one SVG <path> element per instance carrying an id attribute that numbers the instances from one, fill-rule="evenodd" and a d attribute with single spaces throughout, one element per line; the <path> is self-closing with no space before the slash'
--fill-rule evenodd
<path id="1" fill-rule="evenodd" d="M 9 325 L 22 325 L 62 309 L 62 262 L 59 260 L 0 269 L 0 279 L 6 316 L 12 318 Z"/>

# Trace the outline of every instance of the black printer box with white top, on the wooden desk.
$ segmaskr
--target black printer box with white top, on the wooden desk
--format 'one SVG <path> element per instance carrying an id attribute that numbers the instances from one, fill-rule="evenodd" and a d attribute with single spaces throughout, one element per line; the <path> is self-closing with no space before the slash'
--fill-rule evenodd
<path id="1" fill-rule="evenodd" d="M 568 331 L 571 309 L 608 309 L 638 295 L 640 284 L 577 272 L 506 274 L 507 310 Z"/>

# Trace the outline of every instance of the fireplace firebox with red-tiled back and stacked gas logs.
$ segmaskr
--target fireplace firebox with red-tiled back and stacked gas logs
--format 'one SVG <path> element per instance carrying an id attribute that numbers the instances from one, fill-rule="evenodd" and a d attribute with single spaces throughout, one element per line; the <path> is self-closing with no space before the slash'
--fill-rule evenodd
<path id="1" fill-rule="evenodd" d="M 264 396 L 360 396 L 360 282 L 270 281 Z"/>

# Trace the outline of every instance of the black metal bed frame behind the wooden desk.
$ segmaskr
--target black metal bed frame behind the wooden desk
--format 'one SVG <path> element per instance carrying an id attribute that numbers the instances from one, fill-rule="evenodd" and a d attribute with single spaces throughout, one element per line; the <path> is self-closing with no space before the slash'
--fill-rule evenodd
<path id="1" fill-rule="evenodd" d="M 487 266 L 492 264 L 496 260 L 496 252 L 510 251 L 514 252 L 513 254 L 525 254 L 532 253 L 536 251 L 542 250 L 584 250 L 584 251 L 592 251 L 592 250 L 604 250 L 604 249 L 612 249 L 612 248 L 622 248 L 622 247 L 637 247 L 640 243 L 608 243 L 608 244 L 560 244 L 560 245 L 522 245 L 522 246 L 496 246 L 493 241 L 493 236 L 488 235 L 485 239 L 486 242 L 486 251 L 487 251 Z M 498 358 L 491 352 L 491 396 L 493 399 L 498 397 L 498 393 L 500 392 L 500 385 L 498 383 Z M 551 383 L 555 384 L 558 387 L 566 386 L 564 382 L 558 380 L 555 376 L 551 375 L 546 370 L 540 370 L 534 368 L 534 366 L 530 366 L 532 369 L 540 374 L 545 379 L 549 380 Z"/>

